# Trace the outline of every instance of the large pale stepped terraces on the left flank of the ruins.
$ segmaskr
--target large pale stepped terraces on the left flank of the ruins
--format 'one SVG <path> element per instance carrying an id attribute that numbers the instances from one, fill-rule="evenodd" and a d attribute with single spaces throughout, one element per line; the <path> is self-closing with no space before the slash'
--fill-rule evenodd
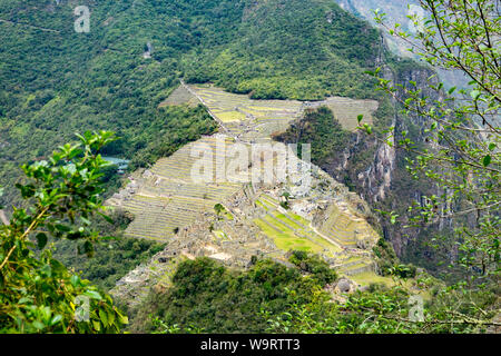
<path id="1" fill-rule="evenodd" d="M 214 158 L 217 159 L 216 142 L 225 139 L 232 142 L 227 137 L 213 136 L 183 147 L 173 156 L 158 160 L 150 170 L 132 179 L 125 189 L 115 195 L 108 204 L 124 208 L 136 217 L 126 235 L 166 240 L 200 214 L 213 210 L 217 202 L 238 191 L 238 184 L 195 184 L 191 179 L 195 162 L 210 158 L 195 157 L 191 149 L 195 146 L 213 149 L 216 156 Z M 215 178 L 216 165 L 212 166 Z"/>

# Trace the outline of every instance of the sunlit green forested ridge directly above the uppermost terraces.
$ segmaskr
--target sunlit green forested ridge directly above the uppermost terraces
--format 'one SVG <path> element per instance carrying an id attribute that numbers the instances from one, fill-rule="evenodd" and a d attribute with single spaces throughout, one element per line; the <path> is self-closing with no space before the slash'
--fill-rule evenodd
<path id="1" fill-rule="evenodd" d="M 377 32 L 332 1 L 238 1 L 230 41 L 184 58 L 186 79 L 213 81 L 254 99 L 371 96 L 363 68 L 375 62 Z M 356 79 L 355 79 L 356 78 Z"/>

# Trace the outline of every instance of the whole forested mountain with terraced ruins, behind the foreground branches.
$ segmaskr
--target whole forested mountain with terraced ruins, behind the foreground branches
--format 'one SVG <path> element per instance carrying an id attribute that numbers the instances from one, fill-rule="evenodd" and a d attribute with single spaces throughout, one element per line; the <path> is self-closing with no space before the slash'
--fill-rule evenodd
<path id="1" fill-rule="evenodd" d="M 0 0 L 0 227 L 23 204 L 14 188 L 22 162 L 46 159 L 77 131 L 112 130 L 119 139 L 104 155 L 118 165 L 102 182 L 115 224 L 92 227 L 117 239 L 104 239 L 91 259 L 77 256 L 73 241 L 53 246 L 58 260 L 128 312 L 130 330 L 165 322 L 170 332 L 179 324 L 263 333 L 271 317 L 308 305 L 322 306 L 322 325 L 333 307 L 341 332 L 366 332 L 365 314 L 340 317 L 327 299 L 361 291 L 397 300 L 401 312 L 409 291 L 433 305 L 430 287 L 442 280 L 426 270 L 439 276 L 458 250 L 430 243 L 454 225 L 411 228 L 404 217 L 425 196 L 448 192 L 413 179 L 412 154 L 384 144 L 406 135 L 421 145 L 428 122 L 367 75 L 381 68 L 389 81 L 433 96 L 435 71 L 372 20 L 381 8 L 412 30 L 409 3 L 416 2 Z M 357 130 L 361 118 L 373 135 Z M 311 180 L 295 171 L 249 181 L 249 169 L 276 178 L 279 152 L 229 170 L 233 149 L 255 158 L 256 144 L 310 144 Z M 197 159 L 200 147 L 210 155 Z M 304 147 L 292 156 L 310 167 Z M 196 165 L 216 181 L 194 180 Z M 230 179 L 218 180 L 217 169 Z M 403 219 L 394 225 L 381 210 Z M 390 274 L 405 278 L 402 290 L 386 289 L 396 283 Z"/>

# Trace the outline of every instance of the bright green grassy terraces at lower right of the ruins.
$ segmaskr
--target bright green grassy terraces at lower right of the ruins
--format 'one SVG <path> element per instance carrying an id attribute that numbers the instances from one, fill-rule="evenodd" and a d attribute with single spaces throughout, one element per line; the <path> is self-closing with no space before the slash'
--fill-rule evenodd
<path id="1" fill-rule="evenodd" d="M 373 274 L 374 263 L 367 247 L 377 240 L 377 234 L 345 204 L 331 201 L 325 215 L 327 220 L 320 229 L 315 228 L 314 221 L 284 209 L 269 194 L 259 195 L 255 204 L 262 212 L 254 224 L 279 249 L 321 254 L 344 275 Z M 301 204 L 301 199 L 291 204 Z"/>

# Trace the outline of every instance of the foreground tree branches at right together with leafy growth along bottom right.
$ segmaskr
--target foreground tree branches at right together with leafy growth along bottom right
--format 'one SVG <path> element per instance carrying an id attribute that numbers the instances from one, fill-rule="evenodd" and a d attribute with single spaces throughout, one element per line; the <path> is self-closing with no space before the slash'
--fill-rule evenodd
<path id="1" fill-rule="evenodd" d="M 429 179 L 440 191 L 426 204 L 409 208 L 411 224 L 450 219 L 455 224 L 456 263 L 465 269 L 466 280 L 444 286 L 421 276 L 419 284 L 433 286 L 433 298 L 423 305 L 424 320 L 409 317 L 409 290 L 402 285 L 391 289 L 372 287 L 347 297 L 346 303 L 330 304 L 314 299 L 293 304 L 288 313 L 269 318 L 269 332 L 292 333 L 483 333 L 499 316 L 500 231 L 500 16 L 498 6 L 487 0 L 420 0 L 428 14 L 410 16 L 415 36 L 385 24 L 384 13 L 376 21 L 407 41 L 411 51 L 436 68 L 453 69 L 470 78 L 470 90 L 456 90 L 436 78 L 429 88 L 394 85 L 370 72 L 379 89 L 390 93 L 403 115 L 420 117 L 428 127 L 424 141 L 403 131 L 393 144 L 394 128 L 385 134 L 386 145 L 407 152 L 407 170 L 415 179 Z M 363 117 L 358 117 L 361 121 Z M 367 135 L 374 132 L 361 125 Z M 384 211 L 392 222 L 399 215 Z M 396 278 L 395 280 L 399 280 Z"/>

